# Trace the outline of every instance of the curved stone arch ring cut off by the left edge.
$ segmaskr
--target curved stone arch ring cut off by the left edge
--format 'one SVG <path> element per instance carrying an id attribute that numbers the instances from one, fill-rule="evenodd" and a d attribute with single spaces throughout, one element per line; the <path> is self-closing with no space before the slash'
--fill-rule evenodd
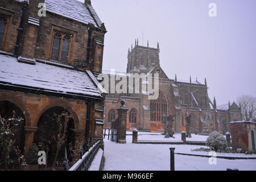
<path id="1" fill-rule="evenodd" d="M 31 126 L 30 114 L 29 114 L 28 110 L 26 109 L 25 104 L 18 96 L 15 96 L 15 95 L 9 94 L 9 93 L 8 94 L 0 93 L 0 102 L 1 101 L 8 101 L 8 102 L 11 102 L 12 104 L 18 106 L 24 115 L 26 126 L 27 127 Z"/>

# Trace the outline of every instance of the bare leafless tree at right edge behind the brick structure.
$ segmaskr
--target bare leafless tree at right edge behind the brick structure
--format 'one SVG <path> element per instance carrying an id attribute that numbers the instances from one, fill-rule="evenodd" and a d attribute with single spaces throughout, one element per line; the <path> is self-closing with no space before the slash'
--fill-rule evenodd
<path id="1" fill-rule="evenodd" d="M 243 119 L 245 121 L 250 121 L 256 114 L 256 97 L 243 95 L 237 98 L 240 102 Z"/>

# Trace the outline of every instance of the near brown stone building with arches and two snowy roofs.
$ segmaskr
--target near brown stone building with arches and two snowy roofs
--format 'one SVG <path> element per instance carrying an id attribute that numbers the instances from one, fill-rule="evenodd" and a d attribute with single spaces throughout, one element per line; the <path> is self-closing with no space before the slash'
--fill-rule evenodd
<path id="1" fill-rule="evenodd" d="M 23 154 L 51 140 L 53 113 L 63 110 L 72 115 L 67 143 L 102 139 L 105 93 L 93 74 L 102 70 L 105 34 L 89 0 L 0 1 L 0 114 L 24 118 L 15 137 Z"/>

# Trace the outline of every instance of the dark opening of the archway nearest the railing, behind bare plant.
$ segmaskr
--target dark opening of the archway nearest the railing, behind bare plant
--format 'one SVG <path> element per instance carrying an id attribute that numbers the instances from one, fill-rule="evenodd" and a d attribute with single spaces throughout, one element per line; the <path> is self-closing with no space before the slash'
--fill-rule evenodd
<path id="1" fill-rule="evenodd" d="M 54 161 L 57 143 L 56 140 L 53 139 L 53 137 L 57 138 L 58 131 L 58 125 L 56 122 L 56 118 L 54 117 L 55 114 L 62 114 L 63 111 L 67 111 L 68 114 L 72 115 L 72 118 L 68 122 L 68 128 L 66 131 L 66 137 L 65 137 L 65 143 L 64 146 L 60 148 L 59 155 L 57 157 L 57 160 L 63 160 L 65 156 L 65 147 L 67 147 L 67 153 L 68 153 L 68 160 L 72 160 L 73 151 L 69 151 L 69 147 L 73 147 L 73 150 L 76 147 L 76 133 L 75 130 L 78 129 L 79 121 L 77 118 L 77 115 L 73 109 L 59 101 L 54 101 L 51 104 L 49 104 L 43 111 L 42 114 L 40 114 L 40 117 L 38 119 L 38 122 L 36 126 L 38 127 L 38 130 L 35 132 L 34 140 L 33 142 L 36 144 L 44 143 L 48 144 L 49 152 L 47 157 L 47 163 L 51 164 Z M 61 121 L 64 122 L 64 118 L 61 118 Z M 63 132 L 63 131 L 62 131 Z M 71 144 L 71 145 L 69 145 Z"/>

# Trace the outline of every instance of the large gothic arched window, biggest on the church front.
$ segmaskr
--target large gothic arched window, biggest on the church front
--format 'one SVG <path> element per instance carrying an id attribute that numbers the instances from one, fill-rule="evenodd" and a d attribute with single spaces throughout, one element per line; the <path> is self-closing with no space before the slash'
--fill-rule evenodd
<path id="1" fill-rule="evenodd" d="M 150 101 L 150 109 L 151 109 L 151 121 L 153 122 L 162 122 L 163 121 L 163 114 L 168 114 L 168 104 L 167 98 L 159 90 L 159 97 L 157 100 Z"/>

